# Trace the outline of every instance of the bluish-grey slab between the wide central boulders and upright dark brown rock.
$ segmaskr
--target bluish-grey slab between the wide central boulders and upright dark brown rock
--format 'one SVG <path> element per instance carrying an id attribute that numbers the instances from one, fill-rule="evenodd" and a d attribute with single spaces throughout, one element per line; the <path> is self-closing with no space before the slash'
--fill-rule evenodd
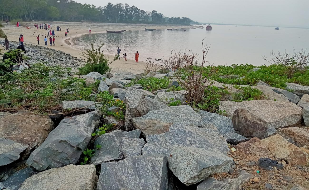
<path id="1" fill-rule="evenodd" d="M 199 110 L 197 113 L 201 115 L 204 124 L 213 124 L 223 136 L 235 132 L 231 118 L 203 110 Z"/>

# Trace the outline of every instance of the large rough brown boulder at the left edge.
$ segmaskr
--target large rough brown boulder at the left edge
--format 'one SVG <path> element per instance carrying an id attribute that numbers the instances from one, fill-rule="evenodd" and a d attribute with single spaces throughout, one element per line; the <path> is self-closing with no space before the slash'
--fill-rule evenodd
<path id="1" fill-rule="evenodd" d="M 48 116 L 21 112 L 0 119 L 0 138 L 28 146 L 22 153 L 23 158 L 27 158 L 32 150 L 40 146 L 53 129 L 54 123 Z"/>

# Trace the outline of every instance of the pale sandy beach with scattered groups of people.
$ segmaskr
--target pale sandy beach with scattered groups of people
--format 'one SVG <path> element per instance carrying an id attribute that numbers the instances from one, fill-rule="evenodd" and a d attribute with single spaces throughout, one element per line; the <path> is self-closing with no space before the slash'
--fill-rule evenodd
<path id="1" fill-rule="evenodd" d="M 27 44 L 36 44 L 37 40 L 36 37 L 40 37 L 40 44 L 39 46 L 44 46 L 44 37 L 47 35 L 46 30 L 44 29 L 36 29 L 34 28 L 35 23 L 51 23 L 51 22 L 21 22 L 20 27 L 16 27 L 16 23 L 10 23 L 3 28 L 3 31 L 6 33 L 9 41 L 18 41 L 18 37 L 20 34 L 24 37 L 24 46 L 27 49 Z M 53 48 L 56 50 L 61 50 L 66 53 L 70 53 L 70 55 L 78 58 L 83 58 L 80 55 L 82 53 L 81 50 L 74 49 L 71 44 L 71 38 L 78 37 L 79 35 L 88 34 L 89 27 L 91 28 L 91 33 L 99 33 L 105 32 L 106 30 L 143 30 L 146 28 L 172 28 L 176 27 L 171 25 L 154 25 L 154 24 L 125 24 L 119 25 L 117 23 L 72 23 L 72 22 L 53 22 L 52 29 L 55 30 L 55 45 L 50 46 L 48 41 L 48 46 L 46 48 Z M 56 27 L 61 26 L 61 31 L 57 31 Z M 30 27 L 27 29 L 26 27 Z M 66 28 L 69 28 L 69 33 L 65 36 Z M 120 28 L 121 27 L 121 28 Z M 185 26 L 177 26 L 177 27 L 185 27 Z M 187 26 L 188 27 L 188 26 Z M 119 44 L 121 46 L 121 44 Z M 115 49 L 116 54 L 116 49 Z M 106 55 L 109 57 L 110 61 L 114 58 L 112 55 Z M 142 73 L 144 71 L 144 64 L 143 61 L 139 61 L 138 63 L 135 62 L 133 59 L 127 59 L 125 61 L 123 58 L 121 60 L 114 61 L 110 67 L 112 67 L 112 72 L 131 72 L 134 74 Z M 82 65 L 81 65 L 82 66 Z"/>

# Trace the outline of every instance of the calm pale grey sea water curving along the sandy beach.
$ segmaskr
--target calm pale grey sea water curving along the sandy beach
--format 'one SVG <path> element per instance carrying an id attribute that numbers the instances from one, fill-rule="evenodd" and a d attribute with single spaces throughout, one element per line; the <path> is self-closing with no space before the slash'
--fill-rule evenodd
<path id="1" fill-rule="evenodd" d="M 202 25 L 201 25 L 202 26 Z M 206 27 L 206 25 L 203 25 Z M 99 41 L 104 43 L 104 52 L 114 55 L 117 47 L 121 48 L 121 55 L 128 54 L 134 59 L 136 51 L 139 60 L 167 58 L 172 50 L 192 50 L 201 53 L 201 40 L 204 44 L 211 44 L 207 61 L 214 65 L 231 65 L 250 63 L 253 65 L 267 64 L 262 56 L 270 56 L 272 51 L 292 52 L 302 48 L 309 50 L 309 29 L 284 28 L 274 30 L 274 27 L 256 26 L 228 26 L 213 25 L 211 31 L 200 28 L 168 31 L 133 30 L 121 34 L 97 33 L 72 38 L 76 49 L 89 48 L 89 44 Z M 122 57 L 122 56 L 121 56 Z"/>

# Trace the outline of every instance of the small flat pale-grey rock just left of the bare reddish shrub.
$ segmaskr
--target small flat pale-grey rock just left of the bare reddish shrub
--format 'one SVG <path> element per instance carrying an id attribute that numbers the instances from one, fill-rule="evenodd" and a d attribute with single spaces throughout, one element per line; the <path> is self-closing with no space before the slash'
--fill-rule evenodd
<path id="1" fill-rule="evenodd" d="M 180 100 L 181 103 L 185 101 L 186 91 L 173 91 L 173 92 L 158 92 L 155 96 L 155 100 L 163 102 L 163 103 L 170 103 L 175 100 Z M 172 100 L 173 99 L 173 100 Z"/>

